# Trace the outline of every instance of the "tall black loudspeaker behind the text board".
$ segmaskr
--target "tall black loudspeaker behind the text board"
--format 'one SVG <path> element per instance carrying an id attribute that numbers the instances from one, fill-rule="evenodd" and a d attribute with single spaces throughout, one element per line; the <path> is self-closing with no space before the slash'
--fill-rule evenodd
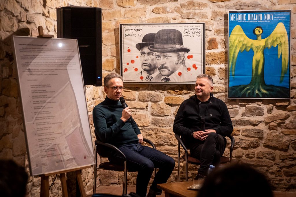
<path id="1" fill-rule="evenodd" d="M 102 86 L 102 9 L 57 8 L 57 37 L 78 40 L 84 85 Z"/>

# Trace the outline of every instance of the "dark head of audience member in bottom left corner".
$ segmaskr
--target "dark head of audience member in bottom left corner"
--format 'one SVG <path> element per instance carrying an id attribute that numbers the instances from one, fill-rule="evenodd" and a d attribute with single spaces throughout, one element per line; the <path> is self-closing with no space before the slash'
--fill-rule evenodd
<path id="1" fill-rule="evenodd" d="M 25 196 L 27 182 L 28 174 L 24 167 L 12 160 L 0 160 L 0 196 Z"/>

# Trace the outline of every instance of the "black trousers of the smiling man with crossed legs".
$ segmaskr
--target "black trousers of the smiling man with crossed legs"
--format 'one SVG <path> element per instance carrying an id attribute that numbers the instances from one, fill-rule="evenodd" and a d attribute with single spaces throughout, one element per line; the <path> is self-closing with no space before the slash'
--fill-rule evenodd
<path id="1" fill-rule="evenodd" d="M 209 133 L 205 141 L 191 144 L 190 154 L 200 160 L 198 174 L 206 176 L 210 165 L 220 164 L 220 157 L 224 153 L 225 145 L 223 136 L 217 133 Z"/>

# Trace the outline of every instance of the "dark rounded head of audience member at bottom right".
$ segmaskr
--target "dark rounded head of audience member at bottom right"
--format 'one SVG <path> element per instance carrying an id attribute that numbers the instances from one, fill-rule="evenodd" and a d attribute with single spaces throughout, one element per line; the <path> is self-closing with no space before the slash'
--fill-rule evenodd
<path id="1" fill-rule="evenodd" d="M 197 197 L 273 197 L 266 177 L 254 168 L 234 164 L 213 171 Z"/>

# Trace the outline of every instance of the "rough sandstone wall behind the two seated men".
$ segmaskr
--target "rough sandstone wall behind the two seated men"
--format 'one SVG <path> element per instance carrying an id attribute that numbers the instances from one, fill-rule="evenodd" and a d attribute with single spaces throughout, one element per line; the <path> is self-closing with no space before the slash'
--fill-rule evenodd
<path id="1" fill-rule="evenodd" d="M 25 137 L 14 65 L 12 35 L 36 36 L 37 27 L 56 37 L 56 8 L 67 3 L 102 8 L 103 76 L 119 72 L 119 23 L 205 22 L 206 73 L 214 78 L 214 94 L 224 100 L 234 125 L 234 160 L 257 167 L 277 191 L 296 190 L 296 1 L 227 0 L 8 0 L 0 1 L 0 159 L 13 159 L 27 171 Z M 227 99 L 227 11 L 291 9 L 291 99 Z M 9 76 L 4 78 L 4 69 Z M 125 84 L 123 92 L 143 135 L 157 149 L 177 159 L 173 120 L 181 102 L 193 95 L 193 85 Z M 92 109 L 104 100 L 102 87 L 86 87 L 86 101 L 93 132 Z M 93 135 L 94 139 L 94 135 Z M 226 155 L 229 151 L 226 151 Z M 190 167 L 189 176 L 196 173 Z M 92 190 L 93 170 L 83 170 L 87 192 Z M 184 179 L 184 167 L 181 176 Z M 67 177 L 71 177 L 68 173 Z M 100 171 L 99 184 L 122 184 L 122 173 Z M 49 182 L 53 177 L 49 178 Z M 70 180 L 70 179 L 69 179 Z M 176 169 L 169 182 L 176 181 Z M 135 184 L 136 172 L 128 183 Z M 70 184 L 69 184 L 70 185 Z M 40 178 L 30 177 L 28 196 L 39 196 Z M 62 196 L 59 178 L 50 196 Z"/>

